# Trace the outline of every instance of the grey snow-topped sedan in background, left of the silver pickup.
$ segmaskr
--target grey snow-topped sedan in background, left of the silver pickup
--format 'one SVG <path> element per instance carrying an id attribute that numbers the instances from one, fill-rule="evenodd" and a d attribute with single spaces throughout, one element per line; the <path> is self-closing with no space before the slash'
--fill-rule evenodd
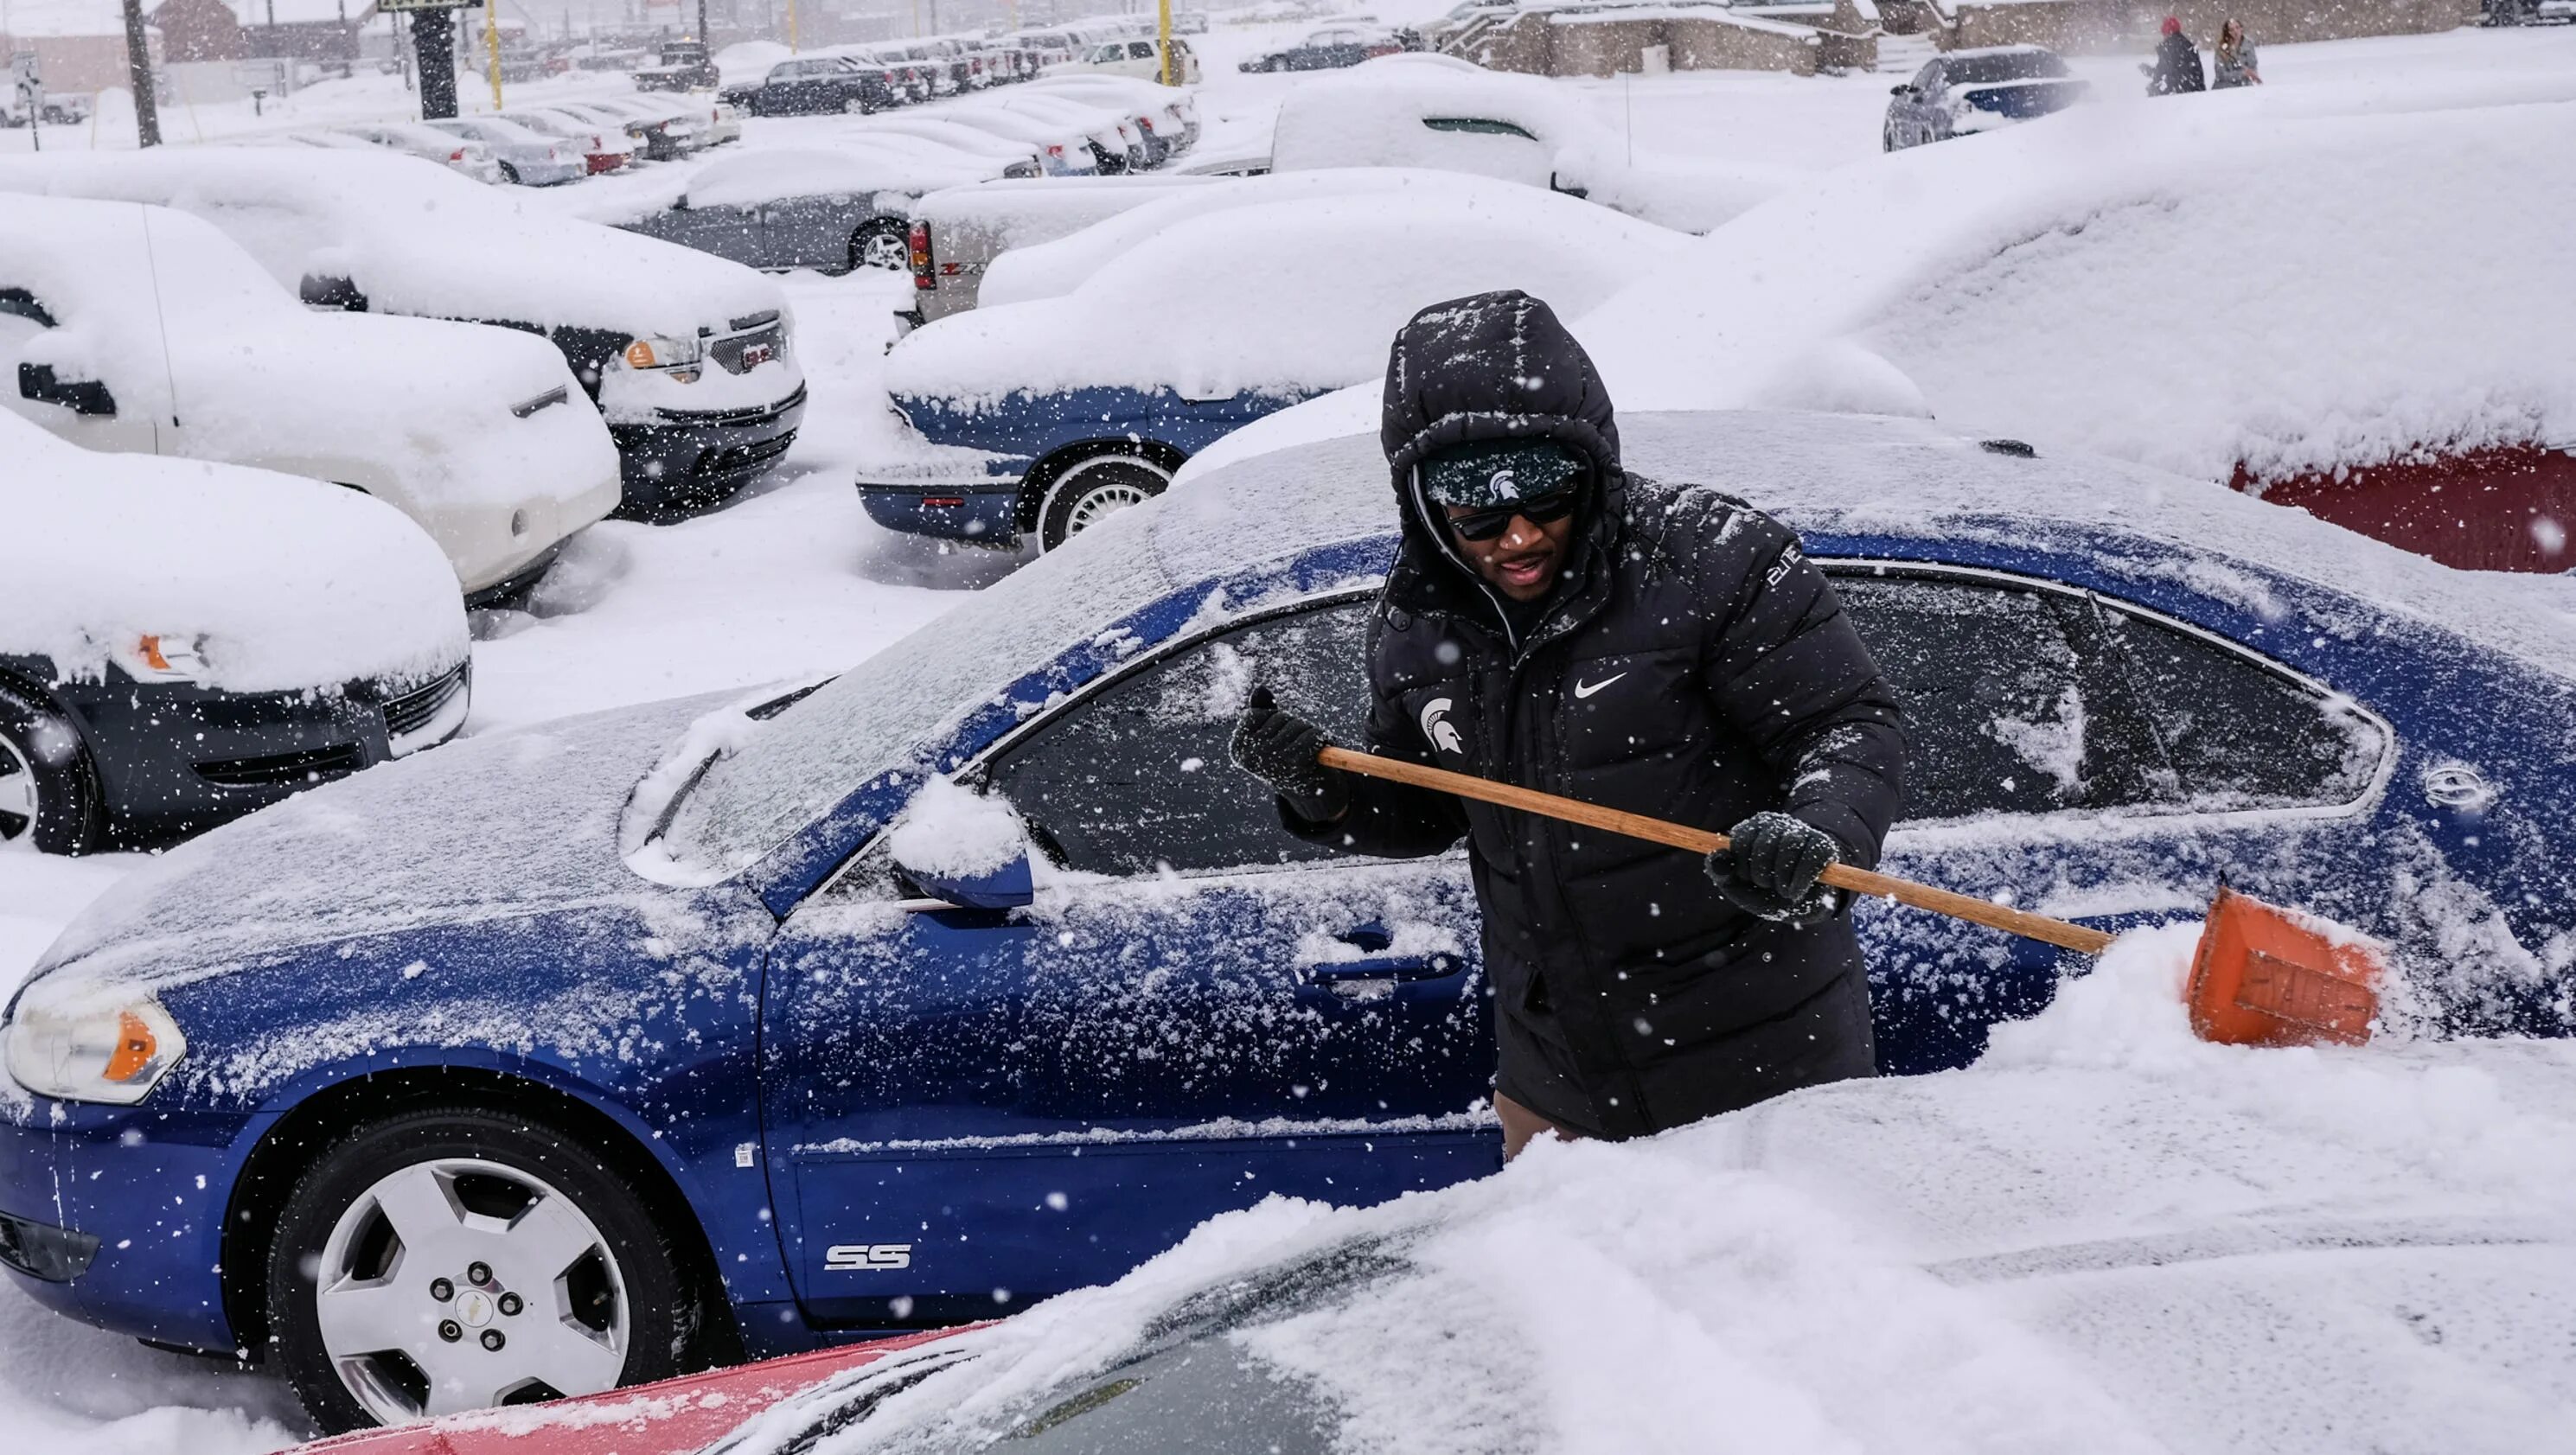
<path id="1" fill-rule="evenodd" d="M 667 209 L 618 227 L 752 268 L 904 268 L 914 198 L 1036 173 L 1025 155 L 1005 165 L 896 134 L 850 136 L 829 152 L 768 147 L 701 167 Z"/>

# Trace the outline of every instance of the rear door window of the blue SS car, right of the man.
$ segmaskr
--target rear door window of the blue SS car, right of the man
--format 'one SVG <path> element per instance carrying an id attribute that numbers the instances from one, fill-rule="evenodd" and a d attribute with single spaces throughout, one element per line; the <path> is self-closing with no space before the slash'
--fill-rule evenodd
<path id="1" fill-rule="evenodd" d="M 2084 597 L 1950 577 L 1837 574 L 1834 590 L 1906 706 L 1909 819 L 2156 798 L 2154 739 L 2079 646 Z"/>

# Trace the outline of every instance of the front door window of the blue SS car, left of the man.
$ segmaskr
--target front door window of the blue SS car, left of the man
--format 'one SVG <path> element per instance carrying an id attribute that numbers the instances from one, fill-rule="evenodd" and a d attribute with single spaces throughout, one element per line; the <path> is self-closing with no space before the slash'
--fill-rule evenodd
<path id="1" fill-rule="evenodd" d="M 1079 700 L 1005 749 L 989 783 L 1030 837 L 1087 873 L 1213 870 L 1329 858 L 1280 829 L 1226 737 L 1255 685 L 1324 737 L 1360 742 L 1370 600 L 1236 626 Z"/>

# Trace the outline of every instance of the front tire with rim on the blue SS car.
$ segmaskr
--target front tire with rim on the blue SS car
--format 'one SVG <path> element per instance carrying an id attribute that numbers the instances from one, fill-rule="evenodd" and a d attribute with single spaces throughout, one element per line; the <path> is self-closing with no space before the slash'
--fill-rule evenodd
<path id="1" fill-rule="evenodd" d="M 325 1432 L 672 1378 L 701 1306 L 644 1208 L 541 1120 L 433 1105 L 361 1125 L 283 1203 L 270 1347 Z"/>

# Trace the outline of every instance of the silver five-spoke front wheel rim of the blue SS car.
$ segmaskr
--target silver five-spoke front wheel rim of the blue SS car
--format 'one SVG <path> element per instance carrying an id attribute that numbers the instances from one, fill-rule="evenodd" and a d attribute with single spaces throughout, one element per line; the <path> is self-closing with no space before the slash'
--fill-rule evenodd
<path id="1" fill-rule="evenodd" d="M 314 1277 L 332 1373 L 399 1424 L 618 1385 L 631 1316 L 608 1239 L 541 1177 L 415 1161 L 332 1223 Z"/>

